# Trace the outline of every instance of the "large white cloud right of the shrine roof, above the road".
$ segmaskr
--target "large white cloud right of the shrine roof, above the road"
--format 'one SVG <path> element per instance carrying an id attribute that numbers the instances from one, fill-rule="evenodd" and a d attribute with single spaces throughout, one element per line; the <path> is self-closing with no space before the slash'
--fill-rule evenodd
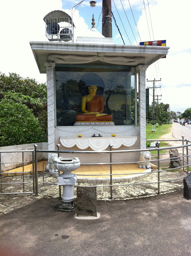
<path id="1" fill-rule="evenodd" d="M 190 107 L 188 100 L 184 100 L 186 95 L 191 93 L 190 82 L 190 0 L 184 0 L 177 4 L 174 0 L 157 0 L 157 5 L 149 5 L 154 40 L 166 39 L 166 45 L 170 47 L 166 58 L 158 60 L 146 71 L 146 78 L 160 78 L 162 88 L 162 102 L 169 103 L 178 108 Z M 148 7 L 146 8 L 147 18 L 149 19 Z M 141 41 L 150 40 L 145 11 L 139 18 L 138 31 Z M 149 22 L 151 40 L 152 30 Z M 158 76 L 156 75 L 156 70 Z M 159 70 L 158 70 L 159 66 Z M 182 86 L 187 84 L 189 86 Z M 181 88 L 180 88 L 181 86 Z M 187 97 L 188 98 L 188 97 Z M 173 109 L 172 109 L 173 110 Z"/>

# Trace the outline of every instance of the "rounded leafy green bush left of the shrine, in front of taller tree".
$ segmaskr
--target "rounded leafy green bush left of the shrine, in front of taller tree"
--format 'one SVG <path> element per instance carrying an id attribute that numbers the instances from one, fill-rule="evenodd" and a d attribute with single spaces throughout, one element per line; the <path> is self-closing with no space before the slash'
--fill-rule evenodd
<path id="1" fill-rule="evenodd" d="M 32 110 L 11 99 L 0 102 L 0 146 L 46 141 Z"/>

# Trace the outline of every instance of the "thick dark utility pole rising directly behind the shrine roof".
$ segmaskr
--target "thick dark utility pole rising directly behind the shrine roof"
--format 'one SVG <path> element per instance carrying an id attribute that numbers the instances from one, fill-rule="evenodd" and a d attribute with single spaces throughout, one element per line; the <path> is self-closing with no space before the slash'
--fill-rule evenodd
<path id="1" fill-rule="evenodd" d="M 102 35 L 112 37 L 111 0 L 102 0 Z"/>

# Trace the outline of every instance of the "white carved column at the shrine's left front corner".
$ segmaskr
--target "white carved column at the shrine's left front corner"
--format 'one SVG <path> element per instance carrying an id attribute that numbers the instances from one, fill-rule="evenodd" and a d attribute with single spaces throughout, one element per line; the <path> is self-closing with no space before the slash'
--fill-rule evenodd
<path id="1" fill-rule="evenodd" d="M 48 126 L 48 150 L 54 148 L 54 67 L 55 63 L 44 63 L 46 67 L 46 84 L 47 84 L 47 126 Z M 48 157 L 49 158 L 49 157 Z"/>

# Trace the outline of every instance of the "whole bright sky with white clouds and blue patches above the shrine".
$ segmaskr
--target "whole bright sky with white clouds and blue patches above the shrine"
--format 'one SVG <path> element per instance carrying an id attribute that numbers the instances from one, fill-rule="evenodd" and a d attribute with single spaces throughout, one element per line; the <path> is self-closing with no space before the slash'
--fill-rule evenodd
<path id="1" fill-rule="evenodd" d="M 0 72 L 6 75 L 15 72 L 22 77 L 45 82 L 46 75 L 39 73 L 29 41 L 47 41 L 43 17 L 56 9 L 62 9 L 71 15 L 71 8 L 77 3 L 78 0 L 0 1 Z M 95 27 L 101 33 L 101 6 L 102 0 L 96 0 L 94 8 L 89 6 L 89 0 L 84 0 L 76 9 L 73 8 L 75 37 L 88 34 L 92 14 Z M 168 103 L 170 110 L 183 112 L 191 107 L 191 1 L 111 0 L 111 6 L 125 44 L 166 40 L 166 46 L 170 47 L 166 58 L 159 59 L 148 67 L 146 78 L 161 78 L 161 82 L 155 83 L 157 87 L 160 86 L 155 90 L 155 95 L 162 95 L 158 97 L 161 98 L 159 102 Z M 123 44 L 113 21 L 112 37 L 115 44 Z M 146 86 L 151 87 L 152 83 L 146 82 Z M 149 93 L 151 101 L 151 89 Z"/>

